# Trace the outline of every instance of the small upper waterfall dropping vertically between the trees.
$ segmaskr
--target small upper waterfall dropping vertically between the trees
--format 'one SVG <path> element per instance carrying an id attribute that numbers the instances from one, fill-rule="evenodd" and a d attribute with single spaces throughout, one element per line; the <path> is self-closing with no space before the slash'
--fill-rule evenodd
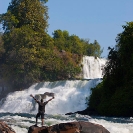
<path id="1" fill-rule="evenodd" d="M 83 79 L 103 78 L 103 68 L 106 59 L 84 56 L 83 57 Z"/>

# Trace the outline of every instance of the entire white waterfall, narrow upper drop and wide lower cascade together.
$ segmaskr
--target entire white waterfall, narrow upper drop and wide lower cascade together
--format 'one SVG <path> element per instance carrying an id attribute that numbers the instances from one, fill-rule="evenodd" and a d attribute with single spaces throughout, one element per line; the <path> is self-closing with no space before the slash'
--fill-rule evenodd
<path id="1" fill-rule="evenodd" d="M 85 56 L 82 62 L 83 79 L 87 80 L 36 83 L 26 90 L 8 94 L 4 100 L 0 101 L 0 112 L 36 113 L 37 105 L 30 94 L 36 95 L 45 92 L 55 93 L 55 99 L 48 103 L 46 113 L 65 114 L 82 111 L 87 107 L 86 99 L 91 94 L 91 88 L 101 82 L 102 68 L 105 63 L 105 59 Z M 46 97 L 46 100 L 49 98 Z"/>

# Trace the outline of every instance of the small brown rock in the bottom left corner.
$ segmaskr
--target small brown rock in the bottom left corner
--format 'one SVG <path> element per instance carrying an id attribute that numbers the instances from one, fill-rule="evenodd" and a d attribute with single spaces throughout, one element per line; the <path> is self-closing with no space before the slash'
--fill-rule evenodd
<path id="1" fill-rule="evenodd" d="M 15 133 L 4 121 L 0 121 L 0 133 Z"/>

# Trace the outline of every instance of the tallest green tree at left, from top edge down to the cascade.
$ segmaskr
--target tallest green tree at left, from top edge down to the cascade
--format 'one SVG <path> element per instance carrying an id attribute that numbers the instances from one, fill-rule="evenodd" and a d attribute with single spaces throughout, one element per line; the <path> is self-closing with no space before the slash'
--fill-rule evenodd
<path id="1" fill-rule="evenodd" d="M 41 78 L 48 42 L 46 1 L 12 0 L 7 13 L 1 14 L 3 54 L 1 69 L 4 79 L 15 89 L 27 87 Z"/>

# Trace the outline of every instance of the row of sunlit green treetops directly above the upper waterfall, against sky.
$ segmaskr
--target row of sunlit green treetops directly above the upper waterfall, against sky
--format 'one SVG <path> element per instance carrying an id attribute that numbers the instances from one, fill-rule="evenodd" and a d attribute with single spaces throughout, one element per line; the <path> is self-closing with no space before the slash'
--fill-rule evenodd
<path id="1" fill-rule="evenodd" d="M 64 30 L 55 30 L 53 33 L 54 45 L 60 50 L 68 51 L 78 55 L 100 57 L 102 50 L 99 43 L 95 40 L 94 43 L 89 43 L 88 40 L 80 39 L 76 35 L 69 35 L 69 32 Z"/>

